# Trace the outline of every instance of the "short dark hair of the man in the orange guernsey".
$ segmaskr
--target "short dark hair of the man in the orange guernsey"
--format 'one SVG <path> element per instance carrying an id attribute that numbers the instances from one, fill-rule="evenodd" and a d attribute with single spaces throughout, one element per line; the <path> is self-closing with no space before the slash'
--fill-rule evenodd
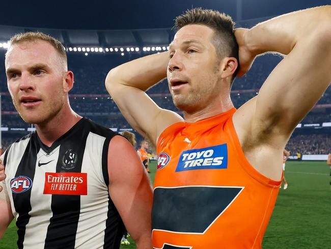
<path id="1" fill-rule="evenodd" d="M 234 57 L 237 59 L 238 67 L 233 74 L 234 79 L 239 70 L 239 47 L 234 35 L 235 22 L 232 20 L 232 17 L 217 10 L 195 8 L 186 10 L 185 13 L 177 16 L 174 28 L 179 30 L 189 24 L 205 25 L 214 31 L 211 42 L 217 51 L 219 59 L 224 57 Z"/>

